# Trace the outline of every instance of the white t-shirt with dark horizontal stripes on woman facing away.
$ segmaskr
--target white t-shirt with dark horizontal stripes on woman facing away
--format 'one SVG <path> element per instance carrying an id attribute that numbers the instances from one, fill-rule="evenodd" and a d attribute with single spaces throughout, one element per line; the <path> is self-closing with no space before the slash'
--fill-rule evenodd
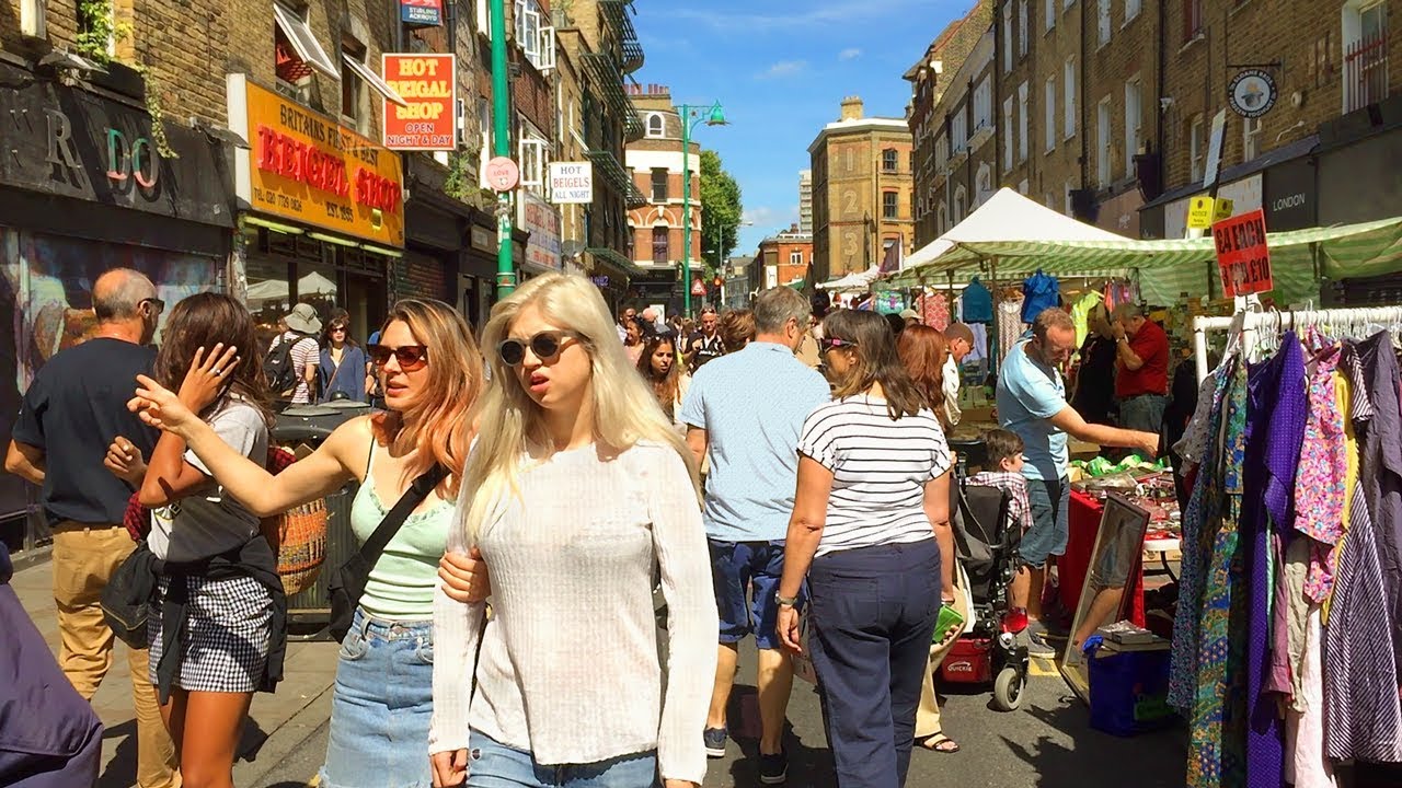
<path id="1" fill-rule="evenodd" d="M 798 450 L 833 471 L 817 555 L 934 538 L 925 482 L 949 470 L 951 456 L 932 411 L 892 421 L 885 400 L 837 400 L 808 416 Z"/>

